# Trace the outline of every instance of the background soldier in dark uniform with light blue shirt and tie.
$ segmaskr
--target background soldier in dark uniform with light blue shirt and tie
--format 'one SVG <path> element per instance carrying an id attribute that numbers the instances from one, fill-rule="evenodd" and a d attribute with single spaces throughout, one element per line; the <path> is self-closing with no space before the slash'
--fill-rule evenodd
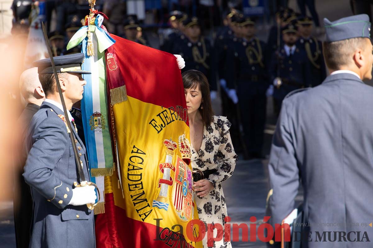
<path id="1" fill-rule="evenodd" d="M 289 24 L 282 30 L 284 45 L 273 54 L 269 67 L 273 85 L 275 114 L 278 116 L 282 100 L 293 90 L 312 86 L 307 54 L 296 45 L 298 40 L 295 26 Z"/>

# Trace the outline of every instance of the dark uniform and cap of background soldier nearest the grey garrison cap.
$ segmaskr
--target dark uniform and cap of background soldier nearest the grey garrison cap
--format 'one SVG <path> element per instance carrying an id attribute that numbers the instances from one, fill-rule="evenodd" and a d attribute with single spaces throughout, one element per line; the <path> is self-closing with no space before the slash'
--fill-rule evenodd
<path id="1" fill-rule="evenodd" d="M 303 17 L 298 20 L 298 25 L 303 23 L 312 25 L 313 22 L 309 17 Z M 300 37 L 296 45 L 306 52 L 310 61 L 312 86 L 318 86 L 326 78 L 322 42 L 312 36 L 309 38 Z"/>

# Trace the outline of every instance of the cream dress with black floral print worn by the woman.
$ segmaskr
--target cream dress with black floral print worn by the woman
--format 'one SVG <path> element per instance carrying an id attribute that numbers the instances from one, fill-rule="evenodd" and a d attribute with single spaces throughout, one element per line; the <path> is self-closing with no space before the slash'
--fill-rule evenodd
<path id="1" fill-rule="evenodd" d="M 205 224 L 226 223 L 227 207 L 221 183 L 232 176 L 238 156 L 235 154 L 229 128 L 231 123 L 226 117 L 214 116 L 213 122 L 209 126 L 204 126 L 203 141 L 198 151 L 192 147 L 192 168 L 200 171 L 217 170 L 204 178 L 211 181 L 214 189 L 206 196 L 197 196 L 194 199 L 197 204 L 198 216 Z M 214 237 L 217 237 L 217 230 L 214 229 Z M 224 237 L 224 234 L 223 234 Z M 226 248 L 232 247 L 231 242 L 207 241 L 207 232 L 203 239 L 203 247 Z"/>

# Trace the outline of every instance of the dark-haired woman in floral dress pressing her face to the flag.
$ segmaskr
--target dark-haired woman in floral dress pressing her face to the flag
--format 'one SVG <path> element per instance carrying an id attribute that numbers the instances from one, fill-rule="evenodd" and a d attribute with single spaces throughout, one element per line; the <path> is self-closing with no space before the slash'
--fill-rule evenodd
<path id="1" fill-rule="evenodd" d="M 238 156 L 235 154 L 226 117 L 214 116 L 211 106 L 209 83 L 200 71 L 189 70 L 182 74 L 186 107 L 188 109 L 190 139 L 192 145 L 192 168 L 198 216 L 205 224 L 219 223 L 223 233 L 214 229 L 213 237 L 219 241 L 203 239 L 204 248 L 232 247 L 224 241 L 224 224 L 227 207 L 221 183 L 231 177 Z M 203 177 L 202 177 L 203 175 Z"/>

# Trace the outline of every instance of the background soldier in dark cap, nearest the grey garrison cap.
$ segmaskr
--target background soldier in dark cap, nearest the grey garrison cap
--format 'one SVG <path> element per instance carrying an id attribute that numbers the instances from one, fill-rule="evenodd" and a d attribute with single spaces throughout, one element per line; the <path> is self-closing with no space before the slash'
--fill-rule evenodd
<path id="1" fill-rule="evenodd" d="M 303 49 L 310 61 L 312 86 L 317 86 L 326 78 L 326 67 L 323 57 L 321 41 L 311 36 L 313 20 L 307 16 L 301 16 L 297 22 L 300 38 L 297 47 Z"/>

